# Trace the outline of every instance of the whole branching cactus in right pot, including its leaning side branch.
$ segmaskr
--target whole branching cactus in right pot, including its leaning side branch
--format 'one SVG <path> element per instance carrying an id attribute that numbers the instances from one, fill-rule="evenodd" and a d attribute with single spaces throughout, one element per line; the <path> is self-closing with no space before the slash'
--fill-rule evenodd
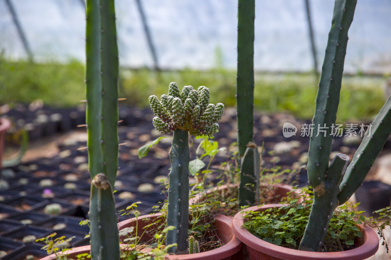
<path id="1" fill-rule="evenodd" d="M 368 174 L 391 132 L 391 98 L 372 123 L 353 160 L 337 154 L 328 165 L 332 125 L 336 120 L 342 83 L 348 29 L 357 0 L 336 0 L 332 27 L 328 36 L 325 60 L 316 98 L 313 132 L 308 158 L 308 180 L 314 189 L 314 202 L 300 242 L 300 250 L 318 251 L 326 235 L 333 211 L 345 203 Z"/>

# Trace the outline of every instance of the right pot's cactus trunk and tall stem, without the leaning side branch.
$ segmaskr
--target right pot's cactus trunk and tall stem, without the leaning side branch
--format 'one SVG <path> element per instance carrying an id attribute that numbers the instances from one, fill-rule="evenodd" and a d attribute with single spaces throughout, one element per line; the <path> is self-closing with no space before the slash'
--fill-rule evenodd
<path id="1" fill-rule="evenodd" d="M 328 159 L 333 138 L 332 125 L 336 120 L 342 84 L 348 29 L 353 20 L 356 3 L 357 0 L 336 0 L 334 5 L 308 150 L 307 173 L 315 199 L 304 237 L 300 242 L 300 250 L 319 251 L 326 235 L 329 216 L 338 205 L 338 180 L 342 180 L 341 176 L 346 169 L 346 157 L 337 155 L 330 166 Z M 333 185 L 338 188 L 333 188 Z"/>

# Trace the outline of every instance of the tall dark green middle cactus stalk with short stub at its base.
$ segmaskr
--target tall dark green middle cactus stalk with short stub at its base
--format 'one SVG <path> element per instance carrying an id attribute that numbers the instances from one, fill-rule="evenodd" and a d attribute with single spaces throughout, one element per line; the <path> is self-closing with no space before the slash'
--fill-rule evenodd
<path id="1" fill-rule="evenodd" d="M 254 150 L 246 152 L 254 138 L 254 19 L 255 0 L 238 1 L 238 72 L 236 103 L 238 118 L 238 146 L 242 158 L 239 184 L 239 205 L 254 201 L 258 189 L 259 169 L 254 172 Z M 258 152 L 258 151 L 257 151 Z M 242 169 L 245 171 L 242 172 Z M 254 187 L 251 190 L 249 187 Z M 251 203 L 250 205 L 253 205 Z"/>

